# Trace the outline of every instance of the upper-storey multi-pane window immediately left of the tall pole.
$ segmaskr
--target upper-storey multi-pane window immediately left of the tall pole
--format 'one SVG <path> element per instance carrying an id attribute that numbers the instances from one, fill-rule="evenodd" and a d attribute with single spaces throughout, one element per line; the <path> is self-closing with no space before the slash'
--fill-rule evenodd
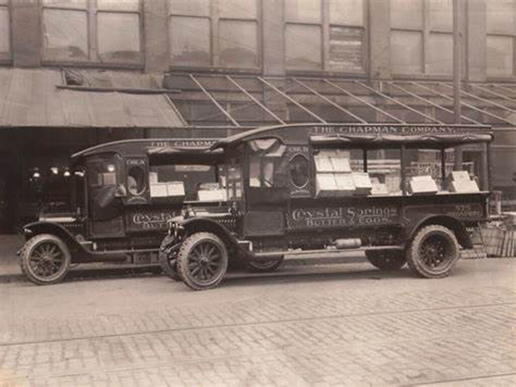
<path id="1" fill-rule="evenodd" d="M 391 64 L 395 74 L 453 73 L 451 0 L 391 0 Z"/>

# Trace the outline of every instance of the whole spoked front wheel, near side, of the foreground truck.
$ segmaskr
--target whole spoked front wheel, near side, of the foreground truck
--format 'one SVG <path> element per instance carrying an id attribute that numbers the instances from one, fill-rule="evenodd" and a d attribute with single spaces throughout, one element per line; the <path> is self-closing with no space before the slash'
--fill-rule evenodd
<path id="1" fill-rule="evenodd" d="M 181 278 L 190 288 L 215 288 L 228 270 L 228 251 L 217 235 L 197 232 L 181 245 L 177 264 Z"/>

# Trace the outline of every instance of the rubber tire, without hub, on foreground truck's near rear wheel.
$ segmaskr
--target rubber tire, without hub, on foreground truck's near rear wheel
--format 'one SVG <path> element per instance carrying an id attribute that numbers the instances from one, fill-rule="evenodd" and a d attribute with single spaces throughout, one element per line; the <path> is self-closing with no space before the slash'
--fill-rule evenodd
<path id="1" fill-rule="evenodd" d="M 439 270 L 426 267 L 426 265 L 422 262 L 419 253 L 420 244 L 432 233 L 438 233 L 442 237 L 446 238 L 453 248 L 453 251 L 451 252 L 451 259 L 446 263 L 445 266 L 440 267 Z M 419 231 L 417 231 L 407 249 L 407 262 L 409 264 L 410 270 L 417 276 L 424 278 L 446 277 L 450 273 L 451 269 L 455 266 L 455 263 L 457 263 L 459 257 L 460 246 L 459 242 L 457 242 L 457 238 L 455 237 L 455 233 L 449 228 L 441 225 L 429 225 L 421 228 Z"/>

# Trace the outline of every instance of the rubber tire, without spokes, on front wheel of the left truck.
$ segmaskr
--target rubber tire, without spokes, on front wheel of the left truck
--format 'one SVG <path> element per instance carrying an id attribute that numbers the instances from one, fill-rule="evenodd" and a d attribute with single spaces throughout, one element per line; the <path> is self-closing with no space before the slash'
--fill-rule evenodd
<path id="1" fill-rule="evenodd" d="M 56 244 L 59 247 L 59 249 L 61 249 L 61 252 L 65 259 L 65 264 L 63 265 L 61 270 L 51 279 L 39 277 L 37 274 L 33 272 L 29 264 L 29 259 L 34 251 L 34 248 L 40 245 L 41 243 L 44 243 L 45 241 L 51 241 L 52 243 Z M 62 239 L 52 234 L 39 234 L 29 239 L 25 243 L 20 254 L 20 260 L 22 266 L 22 273 L 25 274 L 25 276 L 31 282 L 34 282 L 38 285 L 51 285 L 54 283 L 58 283 L 62 281 L 63 278 L 65 278 L 65 276 L 68 274 L 68 271 L 70 270 L 70 262 L 72 260 L 72 257 L 70 255 L 70 250 L 68 249 L 68 246 L 65 242 L 63 242 Z"/>

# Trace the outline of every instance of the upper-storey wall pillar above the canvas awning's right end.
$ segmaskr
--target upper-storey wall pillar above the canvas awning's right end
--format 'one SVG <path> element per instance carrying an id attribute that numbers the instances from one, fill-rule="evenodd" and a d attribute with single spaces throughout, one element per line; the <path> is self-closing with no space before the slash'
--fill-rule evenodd
<path id="1" fill-rule="evenodd" d="M 160 73 L 169 68 L 167 0 L 143 0 L 145 72 Z"/>

